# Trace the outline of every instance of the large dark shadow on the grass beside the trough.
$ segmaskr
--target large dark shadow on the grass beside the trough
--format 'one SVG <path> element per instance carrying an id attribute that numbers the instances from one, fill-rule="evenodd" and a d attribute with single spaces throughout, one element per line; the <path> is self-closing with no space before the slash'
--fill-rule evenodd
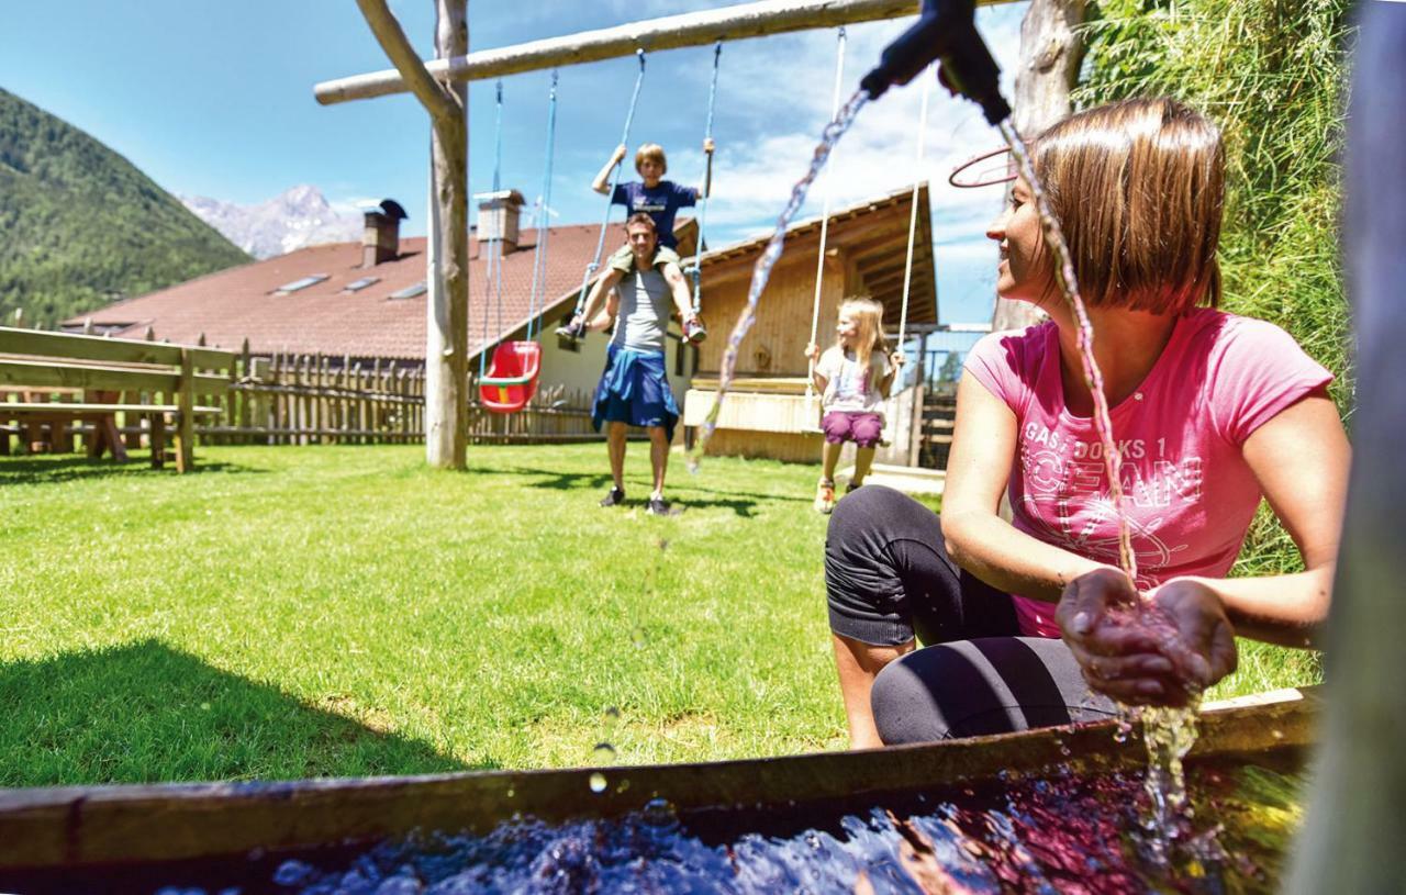
<path id="1" fill-rule="evenodd" d="M 4 787 L 471 770 L 159 641 L 0 666 L 0 712 Z"/>

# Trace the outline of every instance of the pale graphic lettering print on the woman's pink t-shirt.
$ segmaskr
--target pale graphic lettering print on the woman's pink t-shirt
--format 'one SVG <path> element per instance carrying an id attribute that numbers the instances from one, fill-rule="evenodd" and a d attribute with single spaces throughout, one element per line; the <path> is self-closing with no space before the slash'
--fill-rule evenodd
<path id="1" fill-rule="evenodd" d="M 1118 443 L 1123 495 L 1129 511 L 1137 587 L 1153 587 L 1188 549 L 1161 537 L 1170 517 L 1199 511 L 1202 461 L 1174 455 L 1166 438 Z M 1116 565 L 1116 513 L 1108 495 L 1102 444 L 1050 431 L 1036 422 L 1021 427 L 1022 503 L 1028 520 L 1049 544 Z M 1182 528 L 1184 530 L 1184 528 Z M 1147 576 L 1142 575 L 1146 570 Z"/>

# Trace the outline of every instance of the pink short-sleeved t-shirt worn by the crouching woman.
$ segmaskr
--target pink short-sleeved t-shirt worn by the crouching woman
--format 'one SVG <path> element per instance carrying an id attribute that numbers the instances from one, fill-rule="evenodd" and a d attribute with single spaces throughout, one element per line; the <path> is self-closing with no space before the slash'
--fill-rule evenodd
<path id="1" fill-rule="evenodd" d="M 1010 497 L 1015 527 L 1118 565 L 1118 523 L 1098 431 L 1064 405 L 1059 330 L 991 333 L 966 370 L 1019 423 Z M 1240 452 L 1279 410 L 1331 382 L 1278 326 L 1202 308 L 1182 316 L 1143 384 L 1111 409 L 1122 452 L 1137 587 L 1223 577 L 1260 504 Z M 1021 632 L 1059 636 L 1054 604 L 1015 596 Z"/>

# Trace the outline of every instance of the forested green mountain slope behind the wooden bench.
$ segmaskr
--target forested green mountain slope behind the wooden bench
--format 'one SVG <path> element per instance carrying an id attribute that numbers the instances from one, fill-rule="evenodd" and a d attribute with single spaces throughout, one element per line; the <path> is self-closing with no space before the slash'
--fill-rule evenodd
<path id="1" fill-rule="evenodd" d="M 249 261 L 127 159 L 0 90 L 0 323 L 45 326 Z"/>

